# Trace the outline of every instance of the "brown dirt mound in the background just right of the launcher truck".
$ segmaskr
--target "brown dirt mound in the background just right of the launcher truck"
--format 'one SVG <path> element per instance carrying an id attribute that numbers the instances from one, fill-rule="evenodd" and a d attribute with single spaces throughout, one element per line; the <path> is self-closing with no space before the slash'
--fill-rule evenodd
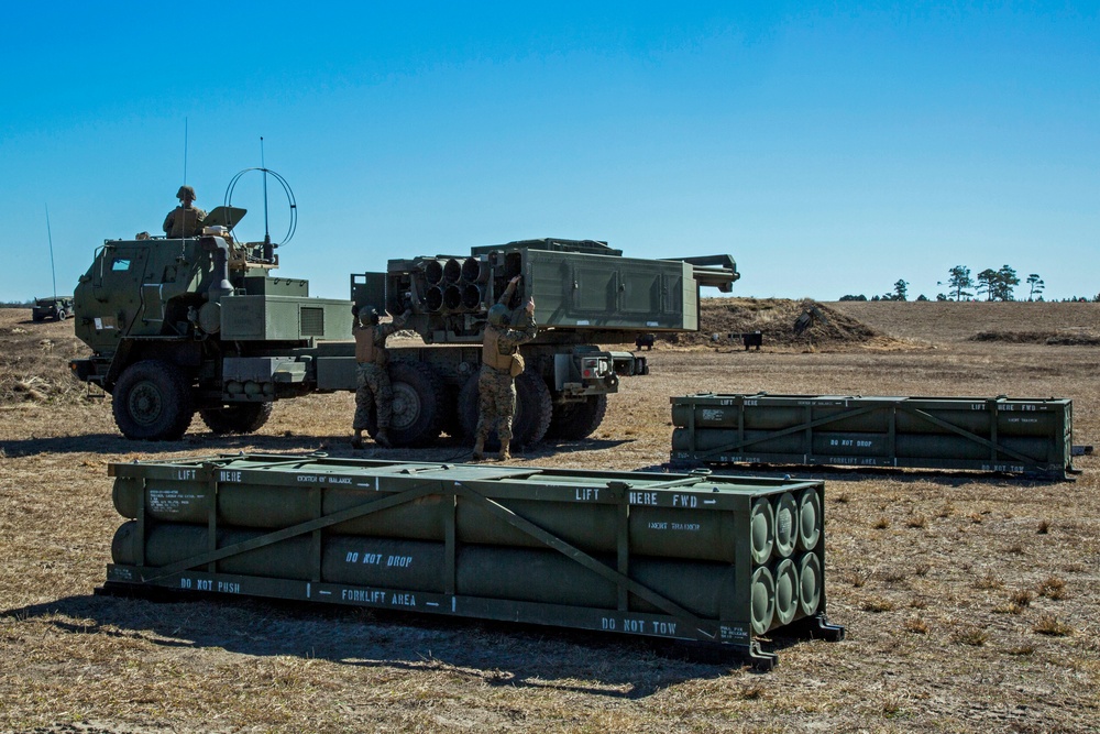
<path id="1" fill-rule="evenodd" d="M 903 344 L 858 319 L 809 298 L 704 298 L 701 310 L 700 331 L 679 335 L 675 343 L 741 348 L 740 335 L 759 331 L 766 349 Z M 795 330 L 800 318 L 805 324 L 801 333 Z"/>

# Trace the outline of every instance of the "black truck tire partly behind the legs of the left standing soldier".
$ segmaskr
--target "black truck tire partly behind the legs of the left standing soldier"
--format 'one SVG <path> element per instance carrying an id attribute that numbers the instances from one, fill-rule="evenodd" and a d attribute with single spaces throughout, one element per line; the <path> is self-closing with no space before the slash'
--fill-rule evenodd
<path id="1" fill-rule="evenodd" d="M 394 446 L 431 446 L 443 431 L 447 419 L 447 390 L 442 377 L 424 362 L 393 362 L 388 368 L 394 388 L 394 415 L 389 442 Z M 378 434 L 378 413 L 371 412 L 366 430 Z"/>

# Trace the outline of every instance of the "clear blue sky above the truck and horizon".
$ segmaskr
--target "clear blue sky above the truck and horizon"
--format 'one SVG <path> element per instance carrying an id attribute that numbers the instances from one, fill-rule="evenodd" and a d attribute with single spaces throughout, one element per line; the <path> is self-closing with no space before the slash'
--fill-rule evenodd
<path id="1" fill-rule="evenodd" d="M 1098 3 L 18 3 L 0 300 L 160 232 L 184 178 L 290 184 L 280 274 L 536 237 L 728 253 L 736 294 L 935 297 L 953 265 L 1100 292 Z M 238 228 L 263 235 L 261 180 Z M 286 231 L 272 189 L 271 231 Z M 716 292 L 713 292 L 716 293 Z M 1026 297 L 1023 287 L 1018 298 Z"/>

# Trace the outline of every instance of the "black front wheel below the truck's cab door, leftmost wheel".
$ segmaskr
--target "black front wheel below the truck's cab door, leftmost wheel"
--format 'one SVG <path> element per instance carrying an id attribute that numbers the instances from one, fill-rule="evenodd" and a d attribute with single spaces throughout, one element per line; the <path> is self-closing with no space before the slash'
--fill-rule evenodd
<path id="1" fill-rule="evenodd" d="M 163 360 L 128 366 L 114 385 L 111 408 L 122 435 L 139 441 L 178 440 L 195 416 L 190 385 Z"/>

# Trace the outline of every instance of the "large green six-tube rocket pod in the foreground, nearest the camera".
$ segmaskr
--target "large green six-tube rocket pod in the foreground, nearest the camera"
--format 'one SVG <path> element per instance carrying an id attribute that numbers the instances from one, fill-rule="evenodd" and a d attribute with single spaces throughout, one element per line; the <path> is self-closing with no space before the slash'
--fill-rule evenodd
<path id="1" fill-rule="evenodd" d="M 838 639 L 824 484 L 241 456 L 110 465 L 107 590 L 298 599 L 727 646 Z M 800 511 L 800 508 L 803 508 Z"/>

